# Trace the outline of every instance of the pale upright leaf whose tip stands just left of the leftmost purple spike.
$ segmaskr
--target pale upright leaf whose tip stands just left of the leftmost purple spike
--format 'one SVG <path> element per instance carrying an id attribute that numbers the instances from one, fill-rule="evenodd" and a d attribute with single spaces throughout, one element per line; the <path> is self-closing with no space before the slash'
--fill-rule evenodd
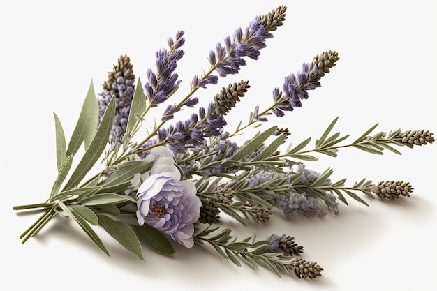
<path id="1" fill-rule="evenodd" d="M 73 130 L 73 135 L 71 135 L 70 142 L 68 143 L 68 149 L 66 155 L 76 154 L 77 150 L 80 148 L 80 144 L 85 140 L 85 149 L 88 148 L 91 138 L 96 132 L 96 127 L 98 124 L 98 100 L 96 94 L 94 93 L 94 84 L 91 80 L 89 84 L 89 89 L 87 97 L 85 97 L 84 103 L 82 105 L 82 110 L 80 112 L 79 119 L 75 129 Z"/>

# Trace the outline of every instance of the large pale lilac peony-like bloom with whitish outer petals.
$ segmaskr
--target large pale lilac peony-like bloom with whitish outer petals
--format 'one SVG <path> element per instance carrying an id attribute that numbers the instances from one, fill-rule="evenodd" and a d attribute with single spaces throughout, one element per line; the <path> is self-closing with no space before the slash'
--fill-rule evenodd
<path id="1" fill-rule="evenodd" d="M 202 206 L 195 185 L 190 180 L 181 180 L 175 159 L 166 147 L 151 149 L 147 158 L 154 158 L 155 162 L 138 188 L 138 223 L 148 223 L 191 248 L 193 223 L 198 220 Z"/>

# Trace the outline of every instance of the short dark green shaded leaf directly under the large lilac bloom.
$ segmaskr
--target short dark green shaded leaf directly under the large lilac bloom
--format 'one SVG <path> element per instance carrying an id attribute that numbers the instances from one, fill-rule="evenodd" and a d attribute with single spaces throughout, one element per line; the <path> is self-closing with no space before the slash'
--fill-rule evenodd
<path id="1" fill-rule="evenodd" d="M 172 255 L 175 253 L 175 249 L 170 244 L 170 241 L 164 236 L 162 232 L 156 230 L 156 228 L 152 227 L 145 223 L 144 225 L 131 225 L 136 234 L 145 241 L 146 244 L 154 248 L 156 251 L 160 251 L 161 253 L 166 253 L 168 255 Z"/>

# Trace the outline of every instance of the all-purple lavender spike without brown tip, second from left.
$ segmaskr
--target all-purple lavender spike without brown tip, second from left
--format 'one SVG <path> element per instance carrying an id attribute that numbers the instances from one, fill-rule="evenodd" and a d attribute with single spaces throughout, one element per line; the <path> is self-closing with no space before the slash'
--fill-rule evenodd
<path id="1" fill-rule="evenodd" d="M 185 43 L 184 31 L 177 31 L 175 40 L 168 39 L 170 51 L 165 49 L 156 52 L 156 73 L 147 70 L 147 80 L 145 84 L 145 95 L 151 107 L 156 107 L 163 103 L 178 89 L 181 80 L 179 75 L 174 73 L 177 61 L 184 56 L 184 51 L 179 50 Z"/>

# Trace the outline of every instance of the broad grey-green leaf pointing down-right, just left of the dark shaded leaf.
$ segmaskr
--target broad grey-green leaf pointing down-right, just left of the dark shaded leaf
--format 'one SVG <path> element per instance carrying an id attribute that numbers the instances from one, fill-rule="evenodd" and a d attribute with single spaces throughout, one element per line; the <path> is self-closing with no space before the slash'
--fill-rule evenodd
<path id="1" fill-rule="evenodd" d="M 131 251 L 137 255 L 138 258 L 144 260 L 142 256 L 142 248 L 138 237 L 132 228 L 124 221 L 115 221 L 114 219 L 97 214 L 98 224 L 103 227 L 111 237 L 118 241 L 121 246 L 124 246 L 126 250 Z"/>

